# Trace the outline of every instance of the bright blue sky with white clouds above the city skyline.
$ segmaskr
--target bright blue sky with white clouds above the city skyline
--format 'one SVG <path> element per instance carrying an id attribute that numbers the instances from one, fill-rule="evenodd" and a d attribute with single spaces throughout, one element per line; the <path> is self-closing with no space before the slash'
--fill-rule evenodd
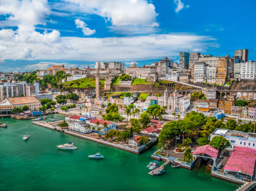
<path id="1" fill-rule="evenodd" d="M 255 0 L 0 0 L 0 70 L 139 66 L 180 51 L 256 60 Z"/>

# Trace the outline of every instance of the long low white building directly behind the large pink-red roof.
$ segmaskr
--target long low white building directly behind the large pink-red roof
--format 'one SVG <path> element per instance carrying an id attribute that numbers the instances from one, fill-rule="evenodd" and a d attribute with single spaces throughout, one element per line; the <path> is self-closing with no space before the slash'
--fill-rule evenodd
<path id="1" fill-rule="evenodd" d="M 226 129 L 218 129 L 211 133 L 211 140 L 215 136 L 223 136 L 230 142 L 230 149 L 236 146 L 244 146 L 256 148 L 256 133 L 246 133 L 242 131 L 231 131 Z"/>

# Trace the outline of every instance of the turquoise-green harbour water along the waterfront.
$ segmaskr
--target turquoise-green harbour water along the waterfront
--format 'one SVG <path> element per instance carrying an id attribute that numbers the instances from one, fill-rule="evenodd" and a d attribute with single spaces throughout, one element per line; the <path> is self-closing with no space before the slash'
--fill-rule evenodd
<path id="1" fill-rule="evenodd" d="M 63 116 L 59 117 L 63 118 Z M 31 120 L 0 119 L 0 190 L 197 190 L 233 191 L 240 185 L 204 172 L 166 166 L 166 173 L 151 176 L 146 168 L 152 147 L 140 155 L 32 124 Z M 22 134 L 29 140 L 23 141 Z M 74 142 L 77 150 L 56 145 Z M 100 149 L 102 160 L 88 159 Z"/>

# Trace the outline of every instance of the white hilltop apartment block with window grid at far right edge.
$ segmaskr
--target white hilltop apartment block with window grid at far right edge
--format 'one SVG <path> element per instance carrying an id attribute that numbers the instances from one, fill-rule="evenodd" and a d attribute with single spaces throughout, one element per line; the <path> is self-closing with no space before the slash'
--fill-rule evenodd
<path id="1" fill-rule="evenodd" d="M 241 79 L 256 79 L 256 62 L 249 60 L 241 63 Z"/>

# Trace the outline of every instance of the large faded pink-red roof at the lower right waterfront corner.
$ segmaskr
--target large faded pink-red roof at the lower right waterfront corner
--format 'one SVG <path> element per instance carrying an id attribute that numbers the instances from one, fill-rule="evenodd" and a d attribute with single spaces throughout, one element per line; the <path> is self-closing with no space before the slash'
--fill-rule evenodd
<path id="1" fill-rule="evenodd" d="M 241 171 L 241 173 L 253 176 L 255 161 L 256 149 L 236 146 L 228 158 L 224 170 L 235 172 Z"/>

